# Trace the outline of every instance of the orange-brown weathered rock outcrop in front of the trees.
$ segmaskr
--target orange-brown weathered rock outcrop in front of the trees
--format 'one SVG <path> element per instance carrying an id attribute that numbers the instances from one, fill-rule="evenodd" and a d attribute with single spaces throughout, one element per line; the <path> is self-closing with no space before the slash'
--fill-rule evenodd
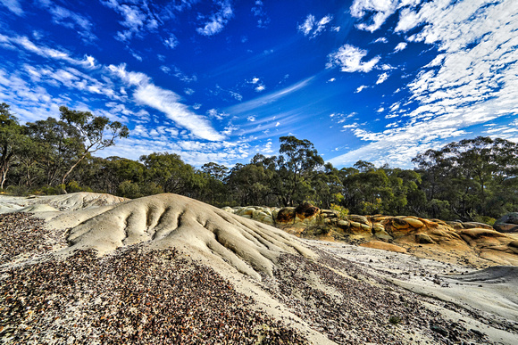
<path id="1" fill-rule="evenodd" d="M 338 211 L 318 209 L 307 203 L 297 208 L 246 207 L 225 210 L 300 236 L 348 239 L 388 251 L 470 251 L 477 258 L 518 265 L 516 238 L 483 223 L 445 222 L 414 216 L 344 216 Z M 518 213 L 502 218 L 501 224 L 513 224 L 505 223 L 512 221 L 518 223 Z M 518 228 L 518 224 L 513 226 Z"/>

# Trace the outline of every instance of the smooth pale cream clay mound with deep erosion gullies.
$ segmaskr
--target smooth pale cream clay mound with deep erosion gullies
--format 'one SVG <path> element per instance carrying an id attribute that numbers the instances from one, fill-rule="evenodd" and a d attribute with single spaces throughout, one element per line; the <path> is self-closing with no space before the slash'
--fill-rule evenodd
<path id="1" fill-rule="evenodd" d="M 71 229 L 70 250 L 100 252 L 139 242 L 186 247 L 205 257 L 230 263 L 246 275 L 272 275 L 281 253 L 313 253 L 297 239 L 272 226 L 231 215 L 201 201 L 160 194 L 124 202 Z"/>

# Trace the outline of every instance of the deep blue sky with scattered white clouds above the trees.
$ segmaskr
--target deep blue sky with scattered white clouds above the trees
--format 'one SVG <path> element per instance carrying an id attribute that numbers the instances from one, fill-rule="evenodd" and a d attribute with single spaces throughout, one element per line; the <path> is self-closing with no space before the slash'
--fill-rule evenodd
<path id="1" fill-rule="evenodd" d="M 337 168 L 518 142 L 516 0 L 0 0 L 0 102 L 119 120 L 100 155 L 231 166 L 310 140 Z"/>

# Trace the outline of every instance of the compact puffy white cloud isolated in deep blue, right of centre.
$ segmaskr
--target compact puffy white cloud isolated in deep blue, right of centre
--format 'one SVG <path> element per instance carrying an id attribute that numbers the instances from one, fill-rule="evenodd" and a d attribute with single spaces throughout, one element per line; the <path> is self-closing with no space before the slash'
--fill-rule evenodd
<path id="1" fill-rule="evenodd" d="M 342 72 L 370 72 L 380 61 L 380 57 L 376 56 L 368 62 L 363 62 L 365 56 L 366 50 L 354 45 L 342 45 L 338 51 L 328 55 L 329 62 L 326 68 L 339 66 Z"/>

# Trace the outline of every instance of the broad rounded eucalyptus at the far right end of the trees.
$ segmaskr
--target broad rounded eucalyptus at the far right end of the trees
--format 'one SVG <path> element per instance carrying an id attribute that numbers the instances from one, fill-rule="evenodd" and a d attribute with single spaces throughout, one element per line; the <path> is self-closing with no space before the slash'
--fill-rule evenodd
<path id="1" fill-rule="evenodd" d="M 518 144 L 505 139 L 464 139 L 413 161 L 428 201 L 457 218 L 499 217 L 518 200 Z"/>

